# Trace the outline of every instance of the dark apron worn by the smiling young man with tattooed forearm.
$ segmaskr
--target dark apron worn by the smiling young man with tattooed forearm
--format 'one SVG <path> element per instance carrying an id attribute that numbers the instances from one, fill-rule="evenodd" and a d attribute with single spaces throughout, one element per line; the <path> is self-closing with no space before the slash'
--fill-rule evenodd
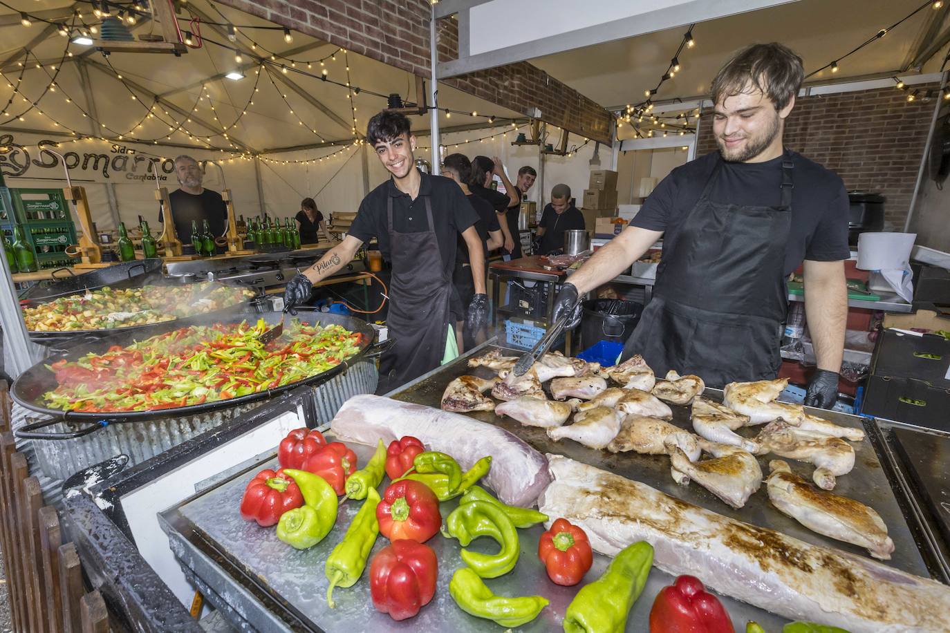
<path id="1" fill-rule="evenodd" d="M 432 203 L 428 195 L 424 197 L 428 219 L 425 233 L 394 231 L 392 196 L 387 198 L 392 278 L 386 323 L 395 342 L 379 359 L 377 394 L 435 369 L 446 353 L 452 275 L 442 263 Z"/>

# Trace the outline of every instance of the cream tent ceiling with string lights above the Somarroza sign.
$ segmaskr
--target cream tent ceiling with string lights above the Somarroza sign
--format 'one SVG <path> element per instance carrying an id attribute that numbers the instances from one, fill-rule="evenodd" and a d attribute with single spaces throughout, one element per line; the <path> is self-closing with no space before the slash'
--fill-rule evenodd
<path id="1" fill-rule="evenodd" d="M 46 11 L 68 8 L 71 4 L 69 2 L 44 0 L 31 3 L 28 9 L 30 11 Z M 217 22 L 230 22 L 236 25 L 274 26 L 273 23 L 266 20 L 236 9 L 214 4 L 209 0 L 192 0 L 186 5 L 184 12 L 188 11 L 188 7 L 198 9 Z M 87 15 L 88 12 L 84 5 L 86 19 L 90 17 Z M 5 14 L 9 14 L 9 11 L 0 9 L 0 17 Z M 222 17 L 222 15 L 225 17 Z M 3 50 L 0 50 L 0 60 L 16 54 L 20 48 L 26 46 L 32 38 L 36 37 L 44 26 L 42 23 L 36 23 L 30 28 L 24 28 L 17 22 L 15 25 L 0 27 L 0 42 L 3 42 Z M 138 34 L 148 32 L 150 28 L 150 25 L 140 23 L 132 30 Z M 181 28 L 185 30 L 189 27 L 186 22 L 181 21 Z M 226 38 L 214 32 L 210 25 L 202 27 L 201 32 L 209 40 L 227 43 Z M 294 33 L 294 42 L 288 44 L 284 42 L 283 33 L 280 30 L 247 29 L 244 31 L 239 29 L 238 42 L 235 44 L 228 43 L 232 48 L 205 43 L 201 48 L 189 49 L 188 53 L 180 58 L 162 54 L 113 53 L 106 61 L 98 52 L 87 55 L 85 59 L 92 65 L 89 68 L 92 94 L 100 118 L 108 126 L 108 129 L 101 130 L 100 134 L 115 137 L 117 134 L 129 131 L 139 121 L 142 121 L 142 118 L 148 112 L 149 105 L 152 103 L 151 98 L 141 92 L 137 92 L 138 99 L 133 100 L 132 94 L 123 86 L 123 82 L 116 78 L 115 75 L 119 74 L 125 80 L 139 84 L 151 93 L 157 95 L 168 93 L 165 95 L 168 102 L 174 103 L 181 110 L 191 112 L 193 108 L 197 107 L 197 111 L 194 112 L 195 117 L 218 126 L 218 130 L 229 128 L 227 133 L 230 138 L 236 140 L 236 142 L 239 141 L 238 144 L 245 144 L 257 150 L 267 151 L 323 141 L 352 140 L 352 111 L 348 89 L 345 86 L 325 83 L 316 77 L 295 72 L 290 67 L 289 62 L 286 64 L 288 67 L 286 74 L 281 73 L 279 66 L 269 65 L 271 76 L 268 76 L 267 71 L 257 68 L 260 72 L 258 77 L 255 68 L 249 68 L 244 72 L 244 79 L 233 81 L 221 78 L 207 82 L 205 84 L 206 88 L 202 92 L 201 82 L 237 67 L 234 48 L 237 48 L 238 45 L 244 45 L 245 50 L 250 50 L 248 37 L 257 42 L 257 51 L 253 51 L 257 54 L 262 54 L 262 50 L 265 48 L 279 54 L 312 45 L 311 49 L 295 55 L 297 60 L 312 61 L 336 52 L 335 61 L 328 59 L 322 67 L 315 63 L 310 70 L 307 70 L 305 64 L 297 64 L 296 67 L 317 77 L 320 75 L 321 69 L 326 68 L 328 77 L 345 83 L 347 81 L 347 59 L 349 59 L 350 79 L 353 86 L 383 95 L 399 93 L 405 101 L 415 102 L 415 79 L 406 71 L 354 53 L 343 54 L 338 52 L 337 47 L 321 43 L 299 32 Z M 47 68 L 36 68 L 32 59 L 28 64 L 21 88 L 30 100 L 38 98 L 49 84 L 47 71 L 49 74 L 52 74 L 53 71 L 48 69 L 48 65 L 59 65 L 59 61 L 65 53 L 65 47 L 66 38 L 59 36 L 54 30 L 45 41 L 32 48 L 32 53 L 42 60 Z M 24 116 L 25 121 L 13 121 L 16 125 L 10 124 L 10 128 L 19 126 L 64 131 L 65 129 L 73 129 L 81 134 L 90 133 L 89 120 L 84 119 L 82 111 L 76 107 L 82 105 L 85 108 L 85 97 L 79 72 L 75 67 L 77 64 L 76 58 L 88 49 L 88 47 L 70 45 L 69 50 L 73 52 L 75 57 L 72 60 L 67 60 L 56 78 L 59 90 L 56 93 L 47 94 L 40 101 L 40 109 L 48 116 L 33 110 Z M 253 61 L 244 50 L 241 51 L 241 55 L 244 64 Z M 20 56 L 14 57 L 11 62 L 12 67 L 8 64 L 4 69 L 4 75 L 11 84 L 15 84 L 16 78 L 19 76 L 20 68 L 15 63 L 20 59 Z M 280 62 L 281 60 L 277 58 L 277 63 Z M 115 72 L 108 65 L 111 65 Z M 321 102 L 335 116 L 328 116 L 320 108 L 314 106 L 313 102 L 308 102 L 293 89 L 279 81 L 277 76 L 297 84 L 303 92 L 313 100 Z M 6 87 L 8 82 L 0 84 L 0 105 L 6 103 L 10 97 L 10 89 Z M 254 92 L 255 82 L 257 82 L 256 93 Z M 187 90 L 181 90 L 185 86 L 191 87 Z M 214 105 L 214 109 L 209 106 L 207 100 L 209 93 L 211 96 L 210 104 Z M 65 95 L 68 95 L 75 103 L 67 103 Z M 286 98 L 282 95 L 286 95 Z M 253 104 L 249 104 L 249 102 L 253 102 Z M 356 128 L 360 134 L 365 133 L 366 123 L 371 115 L 386 107 L 387 104 L 385 99 L 365 92 L 353 95 L 352 103 L 356 108 Z M 10 106 L 10 113 L 0 118 L 0 121 L 5 121 L 10 114 L 18 112 L 18 107 L 21 104 L 28 105 L 28 103 L 23 103 L 19 99 L 15 100 Z M 499 118 L 519 116 L 516 112 L 476 99 L 445 85 L 440 87 L 439 105 L 441 108 L 466 112 L 476 111 Z M 237 121 L 237 125 L 231 127 L 245 106 L 247 107 L 246 113 Z M 167 121 L 169 117 L 164 115 L 163 110 L 171 112 L 169 108 L 163 107 L 161 110 L 156 109 L 155 113 L 157 117 Z M 171 112 L 171 117 L 178 121 L 181 120 L 181 116 L 175 112 Z M 484 116 L 470 117 L 452 114 L 447 119 L 446 115 L 442 114 L 441 119 L 443 125 L 484 123 L 485 127 L 488 126 Z M 60 125 L 54 126 L 53 121 L 60 123 Z M 345 125 L 342 123 L 345 123 Z M 428 130 L 428 123 L 428 115 L 412 117 L 412 125 L 415 130 Z M 172 125 L 175 126 L 174 123 Z M 186 122 L 184 127 L 195 135 L 211 136 L 212 144 L 216 146 L 228 146 L 227 140 L 219 135 L 212 135 L 212 130 L 196 121 Z M 112 130 L 113 133 L 109 134 L 108 130 Z M 315 134 L 313 130 L 316 130 Z M 129 140 L 134 138 L 155 139 L 167 134 L 169 134 L 167 125 L 155 118 L 146 118 L 142 121 L 142 128 L 135 130 Z M 168 141 L 185 144 L 189 142 L 187 135 L 182 132 L 172 133 L 172 139 Z M 196 146 L 199 146 L 199 144 L 196 143 Z"/>

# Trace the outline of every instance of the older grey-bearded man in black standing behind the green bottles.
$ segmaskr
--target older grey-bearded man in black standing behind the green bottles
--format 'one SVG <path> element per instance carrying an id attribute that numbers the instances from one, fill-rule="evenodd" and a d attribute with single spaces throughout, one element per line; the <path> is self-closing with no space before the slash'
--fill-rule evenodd
<path id="1" fill-rule="evenodd" d="M 199 230 L 203 221 L 208 220 L 211 233 L 223 235 L 227 228 L 228 208 L 218 192 L 201 186 L 204 170 L 198 160 L 184 155 L 175 158 L 175 176 L 180 186 L 168 195 L 168 200 L 172 203 L 175 231 L 179 239 L 187 242 L 191 238 L 192 220 L 198 223 Z M 164 222 L 161 211 L 159 222 Z"/>

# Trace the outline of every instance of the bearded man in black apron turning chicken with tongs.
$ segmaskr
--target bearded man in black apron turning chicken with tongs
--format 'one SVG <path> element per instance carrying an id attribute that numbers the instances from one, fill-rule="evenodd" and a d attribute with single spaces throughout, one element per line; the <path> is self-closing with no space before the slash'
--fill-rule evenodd
<path id="1" fill-rule="evenodd" d="M 555 317 L 663 236 L 653 299 L 621 358 L 640 354 L 657 376 L 675 369 L 713 387 L 773 379 L 786 280 L 804 260 L 818 361 L 806 404 L 831 406 L 845 342 L 848 200 L 841 178 L 782 143 L 803 75 L 801 58 L 782 45 L 739 51 L 712 83 L 719 151 L 660 182 L 630 226 L 570 277 Z M 579 322 L 575 308 L 568 326 Z"/>

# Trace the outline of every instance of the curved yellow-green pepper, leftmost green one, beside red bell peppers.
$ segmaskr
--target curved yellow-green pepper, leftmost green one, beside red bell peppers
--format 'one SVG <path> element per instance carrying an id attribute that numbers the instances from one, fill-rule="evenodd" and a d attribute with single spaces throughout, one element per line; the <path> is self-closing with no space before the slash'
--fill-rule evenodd
<path id="1" fill-rule="evenodd" d="M 280 515 L 277 538 L 295 549 L 312 548 L 333 530 L 336 493 L 320 475 L 293 468 L 284 469 L 284 473 L 294 477 L 304 505 Z"/>

